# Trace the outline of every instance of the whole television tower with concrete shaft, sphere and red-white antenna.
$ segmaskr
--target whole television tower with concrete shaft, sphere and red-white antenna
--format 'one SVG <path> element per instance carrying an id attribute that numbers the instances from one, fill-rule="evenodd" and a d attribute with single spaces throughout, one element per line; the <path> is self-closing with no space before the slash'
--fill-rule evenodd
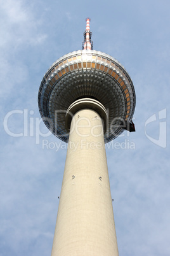
<path id="1" fill-rule="evenodd" d="M 119 255 L 105 143 L 134 131 L 133 82 L 110 55 L 93 50 L 90 19 L 82 50 L 56 60 L 39 87 L 39 111 L 68 143 L 52 256 Z"/>

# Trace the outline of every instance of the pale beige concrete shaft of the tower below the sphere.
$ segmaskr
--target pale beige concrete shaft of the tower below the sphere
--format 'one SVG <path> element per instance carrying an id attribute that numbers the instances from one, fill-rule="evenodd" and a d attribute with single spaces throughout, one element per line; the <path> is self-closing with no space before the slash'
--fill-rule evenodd
<path id="1" fill-rule="evenodd" d="M 71 122 L 51 255 L 119 255 L 103 127 L 94 110 L 77 111 Z"/>

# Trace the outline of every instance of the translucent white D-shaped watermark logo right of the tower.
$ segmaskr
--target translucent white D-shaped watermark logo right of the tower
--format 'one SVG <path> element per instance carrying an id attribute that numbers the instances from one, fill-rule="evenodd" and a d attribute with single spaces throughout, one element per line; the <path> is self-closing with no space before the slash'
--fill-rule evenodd
<path id="1" fill-rule="evenodd" d="M 166 148 L 166 120 L 165 119 L 166 119 L 166 108 L 158 112 L 158 118 L 157 118 L 157 115 L 154 114 L 151 117 L 149 117 L 145 122 L 145 135 L 150 141 L 160 146 L 161 148 Z M 159 138 L 158 139 L 152 138 L 152 136 L 149 136 L 147 134 L 147 125 L 156 121 L 159 121 Z"/>

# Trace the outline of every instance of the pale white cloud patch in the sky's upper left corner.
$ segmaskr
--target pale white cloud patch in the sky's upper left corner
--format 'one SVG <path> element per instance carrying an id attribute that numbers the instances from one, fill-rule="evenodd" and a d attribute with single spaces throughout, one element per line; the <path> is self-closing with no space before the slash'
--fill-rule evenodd
<path id="1" fill-rule="evenodd" d="M 7 0 L 1 4 L 1 46 L 9 48 L 11 53 L 20 45 L 36 45 L 46 39 L 46 34 L 39 31 L 41 16 L 36 15 L 33 3 Z"/>

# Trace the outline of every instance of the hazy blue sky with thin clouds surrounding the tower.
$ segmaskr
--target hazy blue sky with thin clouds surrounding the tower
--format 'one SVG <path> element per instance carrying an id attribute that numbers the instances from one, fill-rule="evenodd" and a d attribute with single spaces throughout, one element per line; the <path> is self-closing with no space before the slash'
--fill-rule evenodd
<path id="1" fill-rule="evenodd" d="M 86 17 L 94 50 L 119 60 L 136 90 L 136 132 L 106 145 L 119 255 L 169 255 L 169 8 L 1 1 L 0 255 L 51 254 L 67 145 L 42 124 L 37 93 L 56 59 L 81 50 Z"/>

